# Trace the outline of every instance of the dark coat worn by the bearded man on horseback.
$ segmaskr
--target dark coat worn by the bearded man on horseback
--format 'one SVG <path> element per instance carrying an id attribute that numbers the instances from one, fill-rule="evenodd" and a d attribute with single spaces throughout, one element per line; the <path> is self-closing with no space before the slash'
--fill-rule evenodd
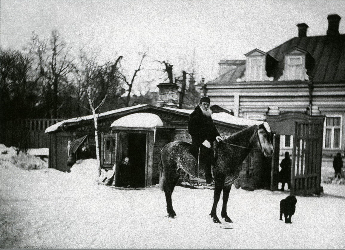
<path id="1" fill-rule="evenodd" d="M 212 118 L 205 116 L 199 105 L 196 106 L 189 117 L 188 132 L 192 138 L 192 144 L 198 146 L 205 140 L 209 141 L 212 145 L 219 135 Z"/>

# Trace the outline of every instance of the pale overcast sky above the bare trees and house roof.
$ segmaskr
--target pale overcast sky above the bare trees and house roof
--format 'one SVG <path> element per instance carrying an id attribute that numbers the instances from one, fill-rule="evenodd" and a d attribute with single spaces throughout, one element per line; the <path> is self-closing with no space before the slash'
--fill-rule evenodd
<path id="1" fill-rule="evenodd" d="M 293 0 L 1 0 L 2 48 L 21 49 L 32 31 L 48 37 L 57 29 L 77 51 L 87 45 L 103 60 L 123 55 L 128 75 L 148 50 L 138 82 L 157 77 L 169 61 L 174 74 L 194 69 L 197 80 L 218 75 L 221 59 L 245 59 L 258 48 L 269 51 L 297 36 L 325 35 L 327 15 L 345 19 L 344 1 Z M 345 33 L 341 20 L 340 33 Z"/>

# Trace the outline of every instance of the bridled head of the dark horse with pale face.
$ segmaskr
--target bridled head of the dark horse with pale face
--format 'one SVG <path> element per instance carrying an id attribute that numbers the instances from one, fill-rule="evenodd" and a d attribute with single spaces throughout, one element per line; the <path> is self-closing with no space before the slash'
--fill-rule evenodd
<path id="1" fill-rule="evenodd" d="M 266 157 L 271 157 L 273 155 L 270 133 L 271 128 L 266 121 L 257 127 L 257 137 L 254 142 L 254 148 L 261 150 Z"/>

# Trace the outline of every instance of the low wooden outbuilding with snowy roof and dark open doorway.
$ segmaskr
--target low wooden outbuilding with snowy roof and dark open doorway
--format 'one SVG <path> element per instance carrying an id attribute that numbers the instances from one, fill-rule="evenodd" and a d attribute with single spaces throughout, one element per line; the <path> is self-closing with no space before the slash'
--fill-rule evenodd
<path id="1" fill-rule="evenodd" d="M 220 111 L 213 113 L 212 117 L 223 137 L 260 123 L 234 117 L 221 109 Z M 164 145 L 175 140 L 191 141 L 188 133 L 191 112 L 193 109 L 137 105 L 100 113 L 98 122 L 101 167 L 108 170 L 115 166 L 115 185 L 118 185 L 119 163 L 128 156 L 132 165 L 132 183 L 142 187 L 157 184 L 160 151 Z M 49 134 L 49 167 L 68 171 L 68 141 L 85 135 L 89 138 L 90 151 L 95 152 L 93 131 L 92 116 L 68 119 L 49 127 L 46 130 Z M 243 187 L 269 188 L 270 169 L 266 171 L 267 184 L 264 186 L 261 169 L 263 162 L 264 156 L 261 152 L 250 154 L 243 163 Z"/>

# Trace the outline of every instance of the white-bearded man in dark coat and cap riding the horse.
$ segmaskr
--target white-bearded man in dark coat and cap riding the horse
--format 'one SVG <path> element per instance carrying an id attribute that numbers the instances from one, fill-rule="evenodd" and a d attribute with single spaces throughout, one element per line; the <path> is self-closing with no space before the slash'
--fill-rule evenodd
<path id="1" fill-rule="evenodd" d="M 213 181 L 211 174 L 211 164 L 213 162 L 213 152 L 211 145 L 215 140 L 223 140 L 216 129 L 211 118 L 210 98 L 202 97 L 199 105 L 191 113 L 188 121 L 188 132 L 192 138 L 192 154 L 204 165 L 206 183 Z"/>

